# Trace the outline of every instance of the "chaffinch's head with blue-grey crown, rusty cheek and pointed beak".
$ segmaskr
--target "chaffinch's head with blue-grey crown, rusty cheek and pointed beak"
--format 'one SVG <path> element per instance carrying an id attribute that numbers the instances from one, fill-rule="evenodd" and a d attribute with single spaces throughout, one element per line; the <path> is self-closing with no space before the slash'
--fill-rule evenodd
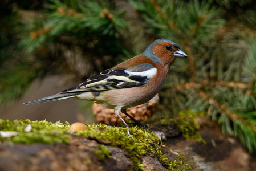
<path id="1" fill-rule="evenodd" d="M 176 58 L 188 58 L 176 43 L 168 39 L 157 39 L 142 53 L 158 64 L 171 64 Z"/>

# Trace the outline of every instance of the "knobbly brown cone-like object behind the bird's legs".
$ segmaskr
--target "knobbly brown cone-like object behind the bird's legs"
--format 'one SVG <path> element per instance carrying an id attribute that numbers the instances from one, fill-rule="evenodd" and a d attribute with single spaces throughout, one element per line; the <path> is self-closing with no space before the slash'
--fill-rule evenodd
<path id="1" fill-rule="evenodd" d="M 157 94 L 147 103 L 128 108 L 127 113 L 134 117 L 136 120 L 145 120 L 157 111 L 158 104 L 159 95 Z M 100 123 L 108 125 L 117 125 L 122 123 L 113 109 L 103 108 L 101 104 L 94 103 L 94 105 L 92 105 L 92 112 L 94 113 L 95 119 Z M 124 113 L 120 113 L 120 115 L 125 121 L 131 120 L 128 116 L 124 115 Z"/>

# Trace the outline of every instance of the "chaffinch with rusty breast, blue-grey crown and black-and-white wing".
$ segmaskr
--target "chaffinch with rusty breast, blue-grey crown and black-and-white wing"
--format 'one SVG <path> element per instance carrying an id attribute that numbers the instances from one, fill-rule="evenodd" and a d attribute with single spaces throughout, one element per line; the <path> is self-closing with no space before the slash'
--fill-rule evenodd
<path id="1" fill-rule="evenodd" d="M 136 124 L 142 125 L 130 116 L 126 109 L 146 103 L 160 91 L 176 58 L 188 58 L 188 55 L 172 40 L 157 39 L 149 44 L 143 53 L 88 78 L 79 86 L 24 104 L 68 98 L 96 101 L 105 108 L 114 109 L 115 114 L 127 127 L 127 135 L 131 136 L 129 126 L 120 116 L 120 112 Z"/>

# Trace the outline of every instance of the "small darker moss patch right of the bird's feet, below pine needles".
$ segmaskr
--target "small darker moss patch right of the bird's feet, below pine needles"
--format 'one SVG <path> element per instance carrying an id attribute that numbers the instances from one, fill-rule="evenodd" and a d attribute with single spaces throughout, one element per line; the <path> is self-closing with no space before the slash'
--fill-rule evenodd
<path id="1" fill-rule="evenodd" d="M 200 125 L 196 121 L 196 117 L 205 116 L 205 112 L 181 111 L 178 116 L 172 119 L 162 119 L 161 124 L 175 123 L 182 136 L 186 139 L 195 139 L 205 144 L 205 140 L 200 135 Z"/>

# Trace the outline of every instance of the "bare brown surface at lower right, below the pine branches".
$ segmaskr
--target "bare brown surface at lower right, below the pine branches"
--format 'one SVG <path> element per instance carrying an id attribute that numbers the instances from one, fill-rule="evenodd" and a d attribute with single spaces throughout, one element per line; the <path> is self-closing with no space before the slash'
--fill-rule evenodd
<path id="1" fill-rule="evenodd" d="M 200 118 L 198 123 L 206 144 L 185 140 L 181 136 L 169 137 L 162 148 L 169 160 L 177 160 L 176 153 L 182 153 L 191 170 L 256 170 L 256 156 L 249 154 L 236 139 L 223 135 L 216 122 Z"/>

